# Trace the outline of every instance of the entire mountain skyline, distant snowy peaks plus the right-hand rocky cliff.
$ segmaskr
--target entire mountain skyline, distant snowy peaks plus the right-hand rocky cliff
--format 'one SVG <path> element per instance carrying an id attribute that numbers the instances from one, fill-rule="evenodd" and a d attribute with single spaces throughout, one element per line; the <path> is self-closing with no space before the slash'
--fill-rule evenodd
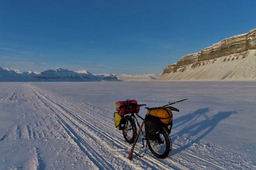
<path id="1" fill-rule="evenodd" d="M 94 82 L 148 80 L 249 80 L 256 81 L 256 28 L 224 39 L 200 52 L 167 65 L 162 75 L 92 74 L 67 69 L 42 73 L 0 67 L 0 82 Z"/>

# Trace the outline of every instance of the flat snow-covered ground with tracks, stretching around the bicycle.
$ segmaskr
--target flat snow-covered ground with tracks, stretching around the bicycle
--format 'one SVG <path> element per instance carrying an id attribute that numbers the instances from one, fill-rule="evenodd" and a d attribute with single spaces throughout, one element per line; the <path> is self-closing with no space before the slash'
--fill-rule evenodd
<path id="1" fill-rule="evenodd" d="M 0 169 L 255 169 L 256 82 L 0 83 Z M 175 104 L 166 159 L 115 129 L 113 101 Z M 140 113 L 145 114 L 142 108 Z M 138 144 L 135 151 L 142 152 Z"/>

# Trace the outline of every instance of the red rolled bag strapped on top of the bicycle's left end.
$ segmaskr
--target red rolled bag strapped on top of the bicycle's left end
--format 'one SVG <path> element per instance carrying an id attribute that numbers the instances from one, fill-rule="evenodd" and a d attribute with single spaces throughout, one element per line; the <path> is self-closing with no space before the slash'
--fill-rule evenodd
<path id="1" fill-rule="evenodd" d="M 137 100 L 126 101 L 114 101 L 115 109 L 120 113 L 120 116 L 123 117 L 128 113 L 139 113 L 139 106 Z"/>

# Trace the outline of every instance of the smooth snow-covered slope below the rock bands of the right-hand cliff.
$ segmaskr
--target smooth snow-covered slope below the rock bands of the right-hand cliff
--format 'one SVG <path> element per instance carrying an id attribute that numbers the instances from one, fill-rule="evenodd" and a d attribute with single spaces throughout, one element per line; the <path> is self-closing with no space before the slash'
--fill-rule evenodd
<path id="1" fill-rule="evenodd" d="M 174 73 L 160 75 L 158 80 L 256 81 L 256 50 L 191 63 L 179 67 Z"/>

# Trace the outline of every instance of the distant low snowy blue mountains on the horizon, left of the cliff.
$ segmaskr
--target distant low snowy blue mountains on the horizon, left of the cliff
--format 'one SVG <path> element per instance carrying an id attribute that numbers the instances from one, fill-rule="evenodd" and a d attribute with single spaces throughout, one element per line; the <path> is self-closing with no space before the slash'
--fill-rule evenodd
<path id="1" fill-rule="evenodd" d="M 71 71 L 58 68 L 46 70 L 42 73 L 0 67 L 0 82 L 96 82 L 96 81 L 147 81 L 156 79 L 155 74 L 143 75 L 114 75 L 92 74 L 89 71 Z"/>

